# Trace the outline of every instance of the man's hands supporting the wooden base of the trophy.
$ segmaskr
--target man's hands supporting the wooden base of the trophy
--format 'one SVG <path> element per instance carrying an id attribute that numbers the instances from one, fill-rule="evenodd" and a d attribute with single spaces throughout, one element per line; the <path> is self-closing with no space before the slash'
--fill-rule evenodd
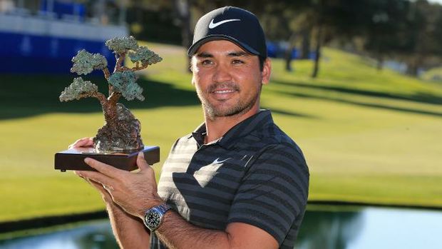
<path id="1" fill-rule="evenodd" d="M 80 139 L 78 144 L 88 143 Z M 76 174 L 104 186 L 103 189 L 125 212 L 143 218 L 145 210 L 164 203 L 157 193 L 155 173 L 145 161 L 143 153 L 138 153 L 137 166 L 140 170 L 135 173 L 114 168 L 92 158 L 86 158 L 85 162 L 98 172 L 76 171 Z"/>

